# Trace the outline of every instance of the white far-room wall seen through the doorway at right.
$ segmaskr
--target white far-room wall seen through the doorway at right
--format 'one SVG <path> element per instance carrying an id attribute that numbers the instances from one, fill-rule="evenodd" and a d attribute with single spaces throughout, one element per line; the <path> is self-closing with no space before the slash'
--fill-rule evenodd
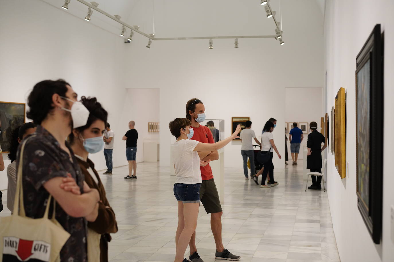
<path id="1" fill-rule="evenodd" d="M 292 129 L 294 122 L 309 123 L 315 121 L 318 123 L 318 131 L 320 132 L 320 118 L 322 113 L 322 92 L 323 88 L 286 88 L 286 112 L 285 122 L 289 122 L 289 132 Z M 300 127 L 300 125 L 298 125 Z M 308 134 L 304 134 L 304 139 L 301 143 L 298 159 L 303 159 L 303 148 L 307 146 Z M 287 134 L 289 138 L 289 134 Z M 290 154 L 290 140 L 287 141 L 289 152 L 289 164 L 292 163 L 292 156 Z"/>

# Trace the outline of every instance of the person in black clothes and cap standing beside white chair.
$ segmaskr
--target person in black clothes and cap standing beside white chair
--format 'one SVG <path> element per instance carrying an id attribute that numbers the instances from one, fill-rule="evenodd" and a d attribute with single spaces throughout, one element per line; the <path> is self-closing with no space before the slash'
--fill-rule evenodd
<path id="1" fill-rule="evenodd" d="M 312 132 L 308 135 L 307 141 L 307 169 L 310 169 L 310 172 L 322 173 L 322 151 L 327 147 L 325 137 L 317 131 L 316 122 L 310 122 L 309 127 Z M 324 143 L 323 147 L 322 143 Z M 312 185 L 308 189 L 322 189 L 321 183 L 321 176 L 312 176 Z"/>

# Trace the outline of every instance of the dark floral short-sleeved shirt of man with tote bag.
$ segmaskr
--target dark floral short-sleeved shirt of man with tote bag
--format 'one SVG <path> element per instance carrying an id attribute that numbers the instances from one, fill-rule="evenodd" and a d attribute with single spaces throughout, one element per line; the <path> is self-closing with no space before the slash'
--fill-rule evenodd
<path id="1" fill-rule="evenodd" d="M 42 126 L 37 126 L 35 137 L 31 137 L 25 145 L 22 165 L 23 199 L 26 216 L 41 218 L 44 216 L 48 191 L 43 184 L 56 177 L 67 177 L 70 173 L 83 193 L 84 175 L 66 142 L 72 156 L 60 148 L 58 141 Z M 19 152 L 18 152 L 19 155 Z M 17 167 L 19 157 L 17 157 Z M 51 207 L 52 209 L 52 207 Z M 52 210 L 50 210 L 52 214 Z M 56 220 L 71 234 L 60 251 L 60 259 L 64 262 L 86 262 L 87 246 L 85 218 L 69 216 L 60 205 L 56 205 Z"/>

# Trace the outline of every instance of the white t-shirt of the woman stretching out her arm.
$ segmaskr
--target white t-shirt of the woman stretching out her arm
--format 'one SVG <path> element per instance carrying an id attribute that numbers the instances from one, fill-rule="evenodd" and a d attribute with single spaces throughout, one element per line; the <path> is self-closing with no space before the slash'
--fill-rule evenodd
<path id="1" fill-rule="evenodd" d="M 197 151 L 193 151 L 197 144 L 196 140 L 182 139 L 175 143 L 173 157 L 175 183 L 197 184 L 201 181 L 200 158 Z"/>

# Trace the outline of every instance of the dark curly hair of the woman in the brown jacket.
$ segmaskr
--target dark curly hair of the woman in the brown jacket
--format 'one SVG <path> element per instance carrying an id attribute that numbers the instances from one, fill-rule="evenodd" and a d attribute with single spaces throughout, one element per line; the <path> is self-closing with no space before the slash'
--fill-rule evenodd
<path id="1" fill-rule="evenodd" d="M 75 128 L 79 133 L 82 133 L 85 129 L 89 128 L 89 126 L 91 126 L 97 119 L 102 120 L 104 125 L 107 124 L 108 112 L 102 108 L 99 102 L 97 102 L 96 97 L 86 98 L 83 96 L 80 101 L 84 104 L 87 110 L 89 110 L 89 118 L 87 119 L 86 125 Z M 74 144 L 74 139 L 74 134 L 71 132 L 71 134 L 69 134 L 69 142 L 71 145 Z"/>

